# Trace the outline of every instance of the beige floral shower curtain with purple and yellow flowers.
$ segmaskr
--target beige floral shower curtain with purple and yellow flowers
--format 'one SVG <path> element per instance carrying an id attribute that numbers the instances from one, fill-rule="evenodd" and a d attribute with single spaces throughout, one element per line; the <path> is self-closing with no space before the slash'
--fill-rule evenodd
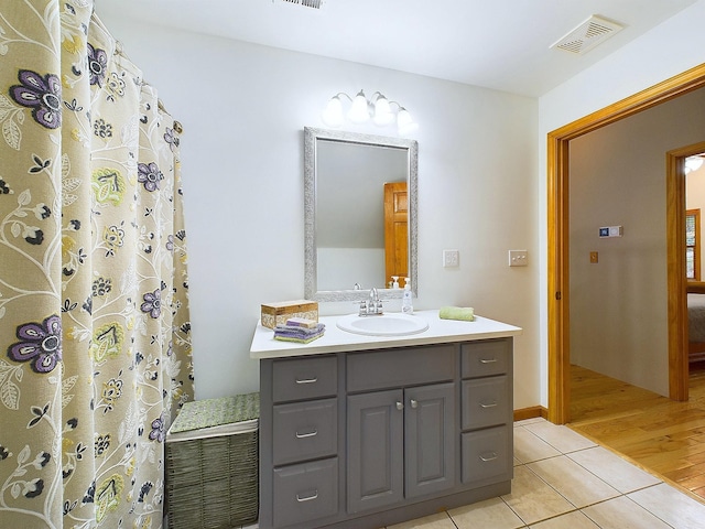
<path id="1" fill-rule="evenodd" d="M 162 526 L 181 127 L 91 0 L 0 0 L 0 528 Z"/>

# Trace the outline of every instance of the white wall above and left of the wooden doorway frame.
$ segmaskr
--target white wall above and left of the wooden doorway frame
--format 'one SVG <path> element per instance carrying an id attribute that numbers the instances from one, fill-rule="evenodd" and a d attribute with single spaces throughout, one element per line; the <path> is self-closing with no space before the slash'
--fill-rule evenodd
<path id="1" fill-rule="evenodd" d="M 540 292 L 547 289 L 546 134 L 705 62 L 705 0 L 637 39 L 539 99 Z M 541 391 L 547 406 L 547 304 L 541 295 Z"/>

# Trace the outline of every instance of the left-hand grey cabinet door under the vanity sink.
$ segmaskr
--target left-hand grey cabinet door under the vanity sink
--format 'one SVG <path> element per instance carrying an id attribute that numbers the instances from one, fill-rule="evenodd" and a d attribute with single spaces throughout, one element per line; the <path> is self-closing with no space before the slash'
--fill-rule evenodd
<path id="1" fill-rule="evenodd" d="M 348 512 L 403 498 L 403 392 L 348 397 Z"/>

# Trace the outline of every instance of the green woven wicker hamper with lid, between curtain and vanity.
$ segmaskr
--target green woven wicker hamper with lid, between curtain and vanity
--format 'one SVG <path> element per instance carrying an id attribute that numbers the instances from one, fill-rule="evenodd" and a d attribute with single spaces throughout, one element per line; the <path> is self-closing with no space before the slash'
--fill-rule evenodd
<path id="1" fill-rule="evenodd" d="M 257 521 L 259 393 L 187 402 L 166 434 L 170 529 Z"/>

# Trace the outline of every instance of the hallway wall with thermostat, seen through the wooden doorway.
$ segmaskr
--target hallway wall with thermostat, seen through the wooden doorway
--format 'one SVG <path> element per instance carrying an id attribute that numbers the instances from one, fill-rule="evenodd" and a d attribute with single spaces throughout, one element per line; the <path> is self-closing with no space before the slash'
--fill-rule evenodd
<path id="1" fill-rule="evenodd" d="M 573 364 L 669 395 L 665 153 L 703 140 L 699 89 L 571 142 Z"/>

